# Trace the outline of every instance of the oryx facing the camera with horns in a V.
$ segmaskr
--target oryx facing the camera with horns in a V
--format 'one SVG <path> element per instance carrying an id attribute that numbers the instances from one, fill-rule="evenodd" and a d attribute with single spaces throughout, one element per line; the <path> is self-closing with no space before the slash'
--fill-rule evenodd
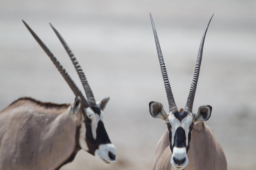
<path id="1" fill-rule="evenodd" d="M 150 114 L 154 118 L 164 120 L 168 129 L 156 145 L 153 170 L 227 170 L 224 151 L 215 139 L 211 128 L 203 122 L 210 118 L 211 106 L 201 105 L 196 113 L 192 113 L 203 44 L 210 21 L 201 39 L 192 85 L 185 108 L 178 110 L 151 14 L 150 18 L 169 104 L 169 113 L 167 113 L 160 102 L 149 103 Z"/>

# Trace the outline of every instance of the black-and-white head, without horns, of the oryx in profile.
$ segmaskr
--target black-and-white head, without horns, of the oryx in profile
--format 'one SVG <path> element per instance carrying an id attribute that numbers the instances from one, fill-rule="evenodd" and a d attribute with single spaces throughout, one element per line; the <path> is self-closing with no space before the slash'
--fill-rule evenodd
<path id="1" fill-rule="evenodd" d="M 116 161 L 116 148 L 111 144 L 103 124 L 103 110 L 108 101 L 109 98 L 105 98 L 97 105 L 91 108 L 81 108 L 82 111 L 79 111 L 82 113 L 79 144 L 83 150 L 91 153 L 104 163 Z M 73 105 L 74 108 L 76 105 Z M 80 110 L 79 108 L 80 106 L 78 110 Z"/>

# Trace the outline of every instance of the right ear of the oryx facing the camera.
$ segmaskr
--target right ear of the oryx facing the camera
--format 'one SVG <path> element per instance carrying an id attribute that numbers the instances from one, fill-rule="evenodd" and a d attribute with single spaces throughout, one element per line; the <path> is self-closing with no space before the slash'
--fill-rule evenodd
<path id="1" fill-rule="evenodd" d="M 201 105 L 197 110 L 197 113 L 193 115 L 194 123 L 199 121 L 206 121 L 210 118 L 212 107 L 210 105 Z"/>

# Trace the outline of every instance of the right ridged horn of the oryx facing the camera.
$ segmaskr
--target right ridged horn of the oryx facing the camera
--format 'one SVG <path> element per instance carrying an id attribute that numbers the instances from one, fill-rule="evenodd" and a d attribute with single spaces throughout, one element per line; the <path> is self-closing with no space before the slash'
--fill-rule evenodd
<path id="1" fill-rule="evenodd" d="M 209 20 L 209 22 L 208 22 L 208 24 L 207 24 L 207 26 L 204 30 L 204 33 L 203 33 L 202 39 L 201 39 L 201 43 L 200 43 L 200 47 L 199 47 L 199 51 L 198 51 L 194 76 L 193 76 L 192 84 L 191 84 L 191 87 L 190 87 L 190 92 L 189 92 L 189 96 L 188 96 L 188 99 L 187 99 L 187 103 L 186 103 L 185 108 L 184 108 L 184 110 L 189 111 L 189 112 L 192 112 L 192 109 L 193 109 L 193 102 L 194 102 L 194 98 L 195 98 L 196 86 L 197 86 L 200 67 L 201 67 L 204 39 L 205 39 L 206 32 L 208 30 L 208 26 L 210 24 L 210 21 L 211 21 L 211 18 L 213 17 L 213 15 L 214 14 L 212 14 L 212 16 L 210 17 L 210 20 Z"/>

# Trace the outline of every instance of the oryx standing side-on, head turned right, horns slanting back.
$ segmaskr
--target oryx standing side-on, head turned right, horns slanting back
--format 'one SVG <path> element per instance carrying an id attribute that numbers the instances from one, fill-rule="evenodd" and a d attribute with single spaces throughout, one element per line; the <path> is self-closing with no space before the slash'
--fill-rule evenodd
<path id="1" fill-rule="evenodd" d="M 95 102 L 82 68 L 53 26 L 82 81 L 87 100 L 53 53 L 26 22 L 23 23 L 76 97 L 72 104 L 25 97 L 0 111 L 0 170 L 57 170 L 73 161 L 81 149 L 104 163 L 116 161 L 115 146 L 103 124 L 103 110 L 110 98 Z"/>

